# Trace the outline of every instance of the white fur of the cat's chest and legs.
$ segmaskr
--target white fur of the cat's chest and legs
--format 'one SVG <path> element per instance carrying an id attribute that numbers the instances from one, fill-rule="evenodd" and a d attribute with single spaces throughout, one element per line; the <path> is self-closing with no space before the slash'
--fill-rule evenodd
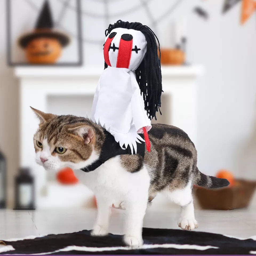
<path id="1" fill-rule="evenodd" d="M 94 171 L 85 173 L 76 170 L 75 175 L 96 195 L 98 214 L 91 234 L 101 236 L 108 233 L 109 207 L 114 204 L 115 207 L 126 208 L 124 242 L 134 248 L 141 246 L 143 218 L 150 185 L 146 166 L 144 165 L 137 173 L 129 173 L 121 166 L 120 156 L 117 156 Z M 182 229 L 196 228 L 191 183 L 185 189 L 174 192 L 166 189 L 165 192 L 172 201 L 182 206 L 178 225 Z"/>

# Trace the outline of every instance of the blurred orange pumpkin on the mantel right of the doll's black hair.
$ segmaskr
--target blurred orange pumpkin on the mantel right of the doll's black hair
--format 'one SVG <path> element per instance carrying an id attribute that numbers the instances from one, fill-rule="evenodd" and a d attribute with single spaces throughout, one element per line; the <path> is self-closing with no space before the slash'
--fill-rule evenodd
<path id="1" fill-rule="evenodd" d="M 161 49 L 161 64 L 181 65 L 185 61 L 185 54 L 178 49 Z"/>

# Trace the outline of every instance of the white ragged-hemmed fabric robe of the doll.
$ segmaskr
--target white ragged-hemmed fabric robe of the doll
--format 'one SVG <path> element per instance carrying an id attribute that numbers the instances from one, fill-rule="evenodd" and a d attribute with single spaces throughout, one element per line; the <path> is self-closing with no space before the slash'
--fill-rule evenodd
<path id="1" fill-rule="evenodd" d="M 138 133 L 143 133 L 143 127 L 149 131 L 151 123 L 133 70 L 109 66 L 103 71 L 93 99 L 92 119 L 122 148 L 129 145 L 136 154 L 136 142 L 144 141 Z"/>

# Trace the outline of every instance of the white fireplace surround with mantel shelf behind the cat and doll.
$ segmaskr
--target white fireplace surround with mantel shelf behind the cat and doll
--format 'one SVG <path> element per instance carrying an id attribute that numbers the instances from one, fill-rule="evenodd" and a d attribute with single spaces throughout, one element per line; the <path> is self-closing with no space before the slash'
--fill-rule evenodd
<path id="1" fill-rule="evenodd" d="M 45 171 L 34 161 L 33 135 L 38 128 L 38 120 L 29 106 L 47 111 L 51 96 L 93 97 L 102 70 L 103 67 L 15 68 L 15 76 L 19 78 L 20 86 L 20 165 L 33 170 L 39 184 L 37 191 L 44 185 L 46 178 Z M 202 73 L 201 66 L 162 66 L 163 117 L 158 120 L 180 127 L 195 144 L 197 143 L 196 81 Z M 84 115 L 86 111 L 90 113 L 90 107 L 85 110 Z"/>

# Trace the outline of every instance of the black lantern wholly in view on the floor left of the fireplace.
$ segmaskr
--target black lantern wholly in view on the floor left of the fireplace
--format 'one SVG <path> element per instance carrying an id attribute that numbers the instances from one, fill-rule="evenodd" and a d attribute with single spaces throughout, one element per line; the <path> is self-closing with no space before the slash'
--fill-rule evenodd
<path id="1" fill-rule="evenodd" d="M 34 178 L 29 168 L 21 168 L 15 179 L 14 210 L 35 210 Z"/>

